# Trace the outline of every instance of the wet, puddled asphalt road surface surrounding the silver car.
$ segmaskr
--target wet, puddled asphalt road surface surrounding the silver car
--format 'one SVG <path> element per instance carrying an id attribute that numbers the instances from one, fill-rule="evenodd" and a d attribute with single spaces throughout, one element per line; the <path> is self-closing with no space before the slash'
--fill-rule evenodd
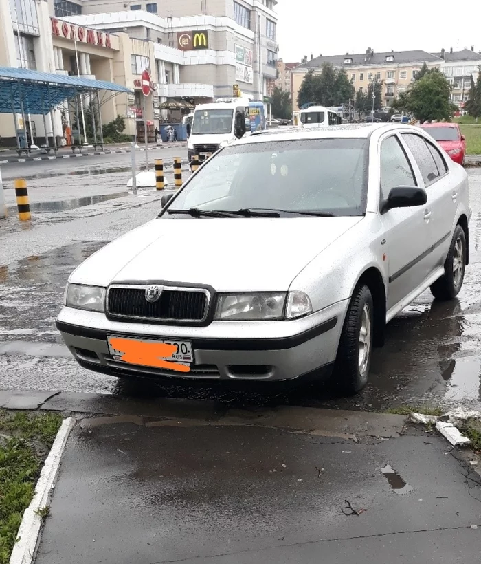
<path id="1" fill-rule="evenodd" d="M 374 351 L 370 384 L 355 398 L 339 398 L 328 385 L 131 382 L 78 367 L 54 327 L 70 272 L 159 210 L 159 196 L 151 189 L 139 191 L 136 198 L 123 195 L 125 173 L 116 173 L 119 178 L 99 176 L 102 180 L 96 186 L 103 187 L 99 188 L 103 195 L 96 197 L 106 201 L 39 210 L 30 225 L 21 225 L 14 217 L 0 224 L 0 387 L 212 400 L 227 406 L 383 411 L 399 404 L 427 403 L 481 409 L 481 169 L 468 170 L 471 264 L 462 292 L 449 303 L 437 303 L 425 292 L 394 319 L 385 347 Z M 68 191 L 68 186 L 63 189 Z"/>

